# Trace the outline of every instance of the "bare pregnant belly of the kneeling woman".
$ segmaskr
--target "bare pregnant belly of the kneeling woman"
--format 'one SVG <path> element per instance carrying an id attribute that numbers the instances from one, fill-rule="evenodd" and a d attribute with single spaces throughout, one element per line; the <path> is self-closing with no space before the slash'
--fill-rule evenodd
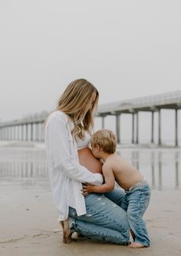
<path id="1" fill-rule="evenodd" d="M 84 147 L 78 150 L 79 163 L 86 167 L 91 173 L 102 173 L 102 164 L 100 160 L 92 154 L 92 151 L 88 147 Z"/>

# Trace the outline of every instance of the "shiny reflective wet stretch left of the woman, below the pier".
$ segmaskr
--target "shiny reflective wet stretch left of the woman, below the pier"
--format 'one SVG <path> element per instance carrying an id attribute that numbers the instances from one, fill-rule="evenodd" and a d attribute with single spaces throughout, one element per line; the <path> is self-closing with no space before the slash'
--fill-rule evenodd
<path id="1" fill-rule="evenodd" d="M 30 148 L 0 148 L 1 185 L 23 188 L 44 187 L 49 190 L 48 163 L 44 150 Z"/>

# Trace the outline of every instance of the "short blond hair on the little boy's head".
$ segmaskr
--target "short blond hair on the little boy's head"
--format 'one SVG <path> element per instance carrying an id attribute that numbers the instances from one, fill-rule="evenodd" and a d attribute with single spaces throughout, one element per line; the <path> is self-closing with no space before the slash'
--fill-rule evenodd
<path id="1" fill-rule="evenodd" d="M 91 136 L 91 146 L 96 145 L 99 145 L 105 153 L 114 153 L 117 148 L 117 137 L 111 130 L 97 130 Z"/>

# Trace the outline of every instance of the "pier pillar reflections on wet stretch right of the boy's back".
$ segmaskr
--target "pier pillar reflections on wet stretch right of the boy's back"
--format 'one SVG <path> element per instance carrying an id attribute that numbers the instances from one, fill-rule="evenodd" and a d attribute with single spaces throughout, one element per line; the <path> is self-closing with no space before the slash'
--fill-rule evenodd
<path id="1" fill-rule="evenodd" d="M 145 175 L 153 189 L 179 188 L 180 149 L 123 149 L 118 153 Z"/>

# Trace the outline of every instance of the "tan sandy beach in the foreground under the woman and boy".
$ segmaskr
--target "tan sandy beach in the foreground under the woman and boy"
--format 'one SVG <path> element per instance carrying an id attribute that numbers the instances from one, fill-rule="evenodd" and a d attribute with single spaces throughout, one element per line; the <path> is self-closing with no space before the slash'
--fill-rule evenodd
<path id="1" fill-rule="evenodd" d="M 33 151 L 37 154 L 41 149 Z M 150 206 L 144 216 L 151 246 L 130 249 L 81 238 L 71 244 L 63 244 L 58 212 L 47 177 L 12 179 L 1 175 L 0 185 L 1 255 L 181 255 L 179 188 L 152 190 Z"/>

